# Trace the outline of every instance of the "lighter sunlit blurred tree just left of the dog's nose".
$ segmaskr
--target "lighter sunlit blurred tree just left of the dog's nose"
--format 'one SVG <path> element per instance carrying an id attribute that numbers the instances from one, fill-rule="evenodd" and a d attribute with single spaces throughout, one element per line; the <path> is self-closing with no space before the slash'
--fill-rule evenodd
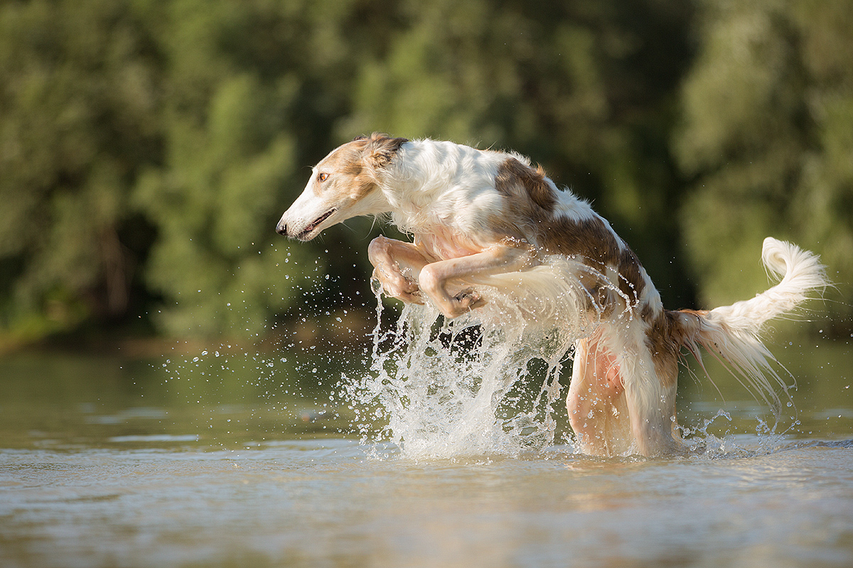
<path id="1" fill-rule="evenodd" d="M 158 227 L 146 279 L 165 297 L 155 321 L 171 334 L 258 333 L 293 301 L 276 269 L 289 246 L 268 236 L 293 170 L 283 127 L 299 82 L 229 58 L 223 46 L 247 32 L 241 16 L 230 2 L 175 2 L 165 14 L 165 158 L 140 177 L 134 205 Z"/>

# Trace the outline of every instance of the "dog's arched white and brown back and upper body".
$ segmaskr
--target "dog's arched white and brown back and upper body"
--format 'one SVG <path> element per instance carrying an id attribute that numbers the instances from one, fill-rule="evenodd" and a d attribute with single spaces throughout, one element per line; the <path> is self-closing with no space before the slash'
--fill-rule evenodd
<path id="1" fill-rule="evenodd" d="M 542 255 L 583 260 L 590 273 L 604 275 L 640 309 L 659 304 L 651 278 L 610 224 L 518 154 L 409 141 L 388 175 L 394 181 L 388 192 L 394 196 L 392 220 L 406 232 L 435 241 L 438 252 L 455 248 L 442 246 L 444 236 L 464 242 L 466 250 L 516 239 Z"/>

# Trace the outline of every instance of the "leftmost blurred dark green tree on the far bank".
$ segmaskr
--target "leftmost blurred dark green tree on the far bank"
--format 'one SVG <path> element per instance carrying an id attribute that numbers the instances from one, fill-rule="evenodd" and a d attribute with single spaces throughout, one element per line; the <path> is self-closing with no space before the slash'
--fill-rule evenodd
<path id="1" fill-rule="evenodd" d="M 127 207 L 160 152 L 145 23 L 112 0 L 0 6 L 0 330 L 126 313 L 150 227 Z"/>

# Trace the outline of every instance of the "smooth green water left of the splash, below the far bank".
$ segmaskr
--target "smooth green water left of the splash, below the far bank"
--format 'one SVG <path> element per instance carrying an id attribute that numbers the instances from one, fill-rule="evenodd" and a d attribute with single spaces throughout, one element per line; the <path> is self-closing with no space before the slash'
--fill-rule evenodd
<path id="1" fill-rule="evenodd" d="M 0 445 L 221 449 L 340 435 L 349 411 L 329 401 L 340 359 L 215 348 L 149 359 L 14 356 L 0 360 Z"/>

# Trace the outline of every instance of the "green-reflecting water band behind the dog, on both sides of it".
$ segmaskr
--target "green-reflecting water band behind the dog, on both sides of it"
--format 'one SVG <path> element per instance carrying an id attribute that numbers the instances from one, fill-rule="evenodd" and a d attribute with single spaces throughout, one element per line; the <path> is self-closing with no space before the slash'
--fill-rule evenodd
<path id="1" fill-rule="evenodd" d="M 776 347 L 775 353 L 796 382 L 780 433 L 795 439 L 853 435 L 850 342 L 798 343 Z M 341 374 L 365 372 L 366 360 L 363 354 L 316 349 L 258 353 L 217 347 L 148 359 L 7 357 L 0 359 L 0 447 L 145 447 L 172 440 L 223 449 L 266 440 L 355 437 L 352 410 L 338 393 Z M 713 384 L 697 369 L 693 376 L 682 373 L 682 425 L 699 427 L 721 409 L 731 420 L 715 419 L 710 430 L 718 435 L 754 433 L 758 419 L 773 422 L 766 404 L 751 399 L 733 376 L 712 360 L 705 365 Z M 565 410 L 555 410 L 566 434 Z"/>

